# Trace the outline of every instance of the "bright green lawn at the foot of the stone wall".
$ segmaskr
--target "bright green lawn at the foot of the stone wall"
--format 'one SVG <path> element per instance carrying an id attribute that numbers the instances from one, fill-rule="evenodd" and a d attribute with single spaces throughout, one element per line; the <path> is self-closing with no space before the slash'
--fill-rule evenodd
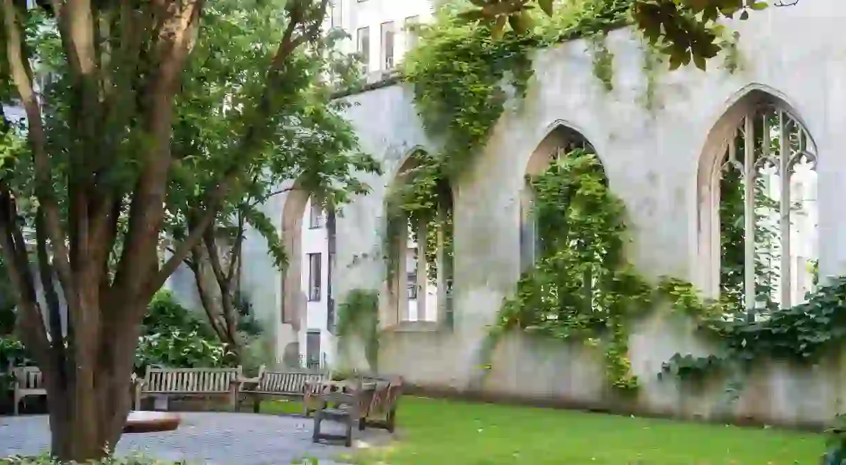
<path id="1" fill-rule="evenodd" d="M 267 402 L 262 413 L 299 413 Z M 355 462 L 390 465 L 817 465 L 821 435 L 404 397 L 402 437 Z"/>

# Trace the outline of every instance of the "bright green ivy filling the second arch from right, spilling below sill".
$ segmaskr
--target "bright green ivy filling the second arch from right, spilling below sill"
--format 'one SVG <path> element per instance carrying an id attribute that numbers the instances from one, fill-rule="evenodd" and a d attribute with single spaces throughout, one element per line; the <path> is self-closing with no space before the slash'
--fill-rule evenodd
<path id="1" fill-rule="evenodd" d="M 633 388 L 628 324 L 652 289 L 624 258 L 624 205 L 596 156 L 574 150 L 531 179 L 539 256 L 503 305 L 499 325 L 601 345 L 613 386 Z"/>

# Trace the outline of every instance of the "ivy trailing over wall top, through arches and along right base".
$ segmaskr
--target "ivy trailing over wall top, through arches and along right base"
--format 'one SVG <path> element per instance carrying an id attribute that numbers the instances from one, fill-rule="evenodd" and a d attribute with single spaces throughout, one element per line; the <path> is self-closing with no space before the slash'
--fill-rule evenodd
<path id="1" fill-rule="evenodd" d="M 389 283 L 398 269 L 398 245 L 404 244 L 396 239 L 404 238 L 409 225 L 412 231 L 427 225 L 426 260 L 431 272 L 437 273 L 438 231 L 449 241 L 445 254 L 451 257 L 449 184 L 459 179 L 484 149 L 509 94 L 525 96 L 532 75 L 531 53 L 560 41 L 591 37 L 594 74 L 612 90 L 613 56 L 604 37 L 608 30 L 627 24 L 632 3 L 568 2 L 552 18 L 536 18 L 529 33 L 497 39 L 492 38 L 496 35 L 489 25 L 469 24 L 459 18 L 458 9 L 442 8 L 433 24 L 419 26 L 420 45 L 404 58 L 403 75 L 413 85 L 415 106 L 426 132 L 440 150 L 420 154 L 420 160 L 405 173 L 405 182 L 387 195 Z M 722 40 L 727 50 L 724 66 L 734 72 L 739 68 L 736 36 L 726 34 Z M 646 47 L 648 109 L 656 102 L 655 69 L 660 59 L 656 50 Z M 721 222 L 722 295 L 711 301 L 701 298 L 689 282 L 673 278 L 662 278 L 655 285 L 646 282 L 625 260 L 624 205 L 608 189 L 602 165 L 594 156 L 573 152 L 531 183 L 536 189 L 534 215 L 540 254 L 535 267 L 521 276 L 514 298 L 503 304 L 492 336 L 519 329 L 600 346 L 609 383 L 624 389 L 638 385 L 628 358 L 631 323 L 661 300 L 674 312 L 693 318 L 719 346 L 717 354 L 707 358 L 673 356 L 663 370 L 676 375 L 702 374 L 727 366 L 749 368 L 765 356 L 807 360 L 824 353 L 825 347 L 843 343 L 846 278 L 819 288 L 805 304 L 771 309 L 768 320 L 743 318 L 744 247 L 737 222 Z M 721 217 L 742 217 L 742 192 L 738 197 L 736 189 L 739 178 L 725 178 L 722 183 Z M 770 233 L 756 231 L 756 236 L 766 238 Z M 761 247 L 756 256 L 770 246 Z M 777 265 L 771 263 L 762 259 L 755 264 L 755 292 L 761 297 L 771 293 L 772 282 L 777 281 Z M 490 352 L 491 347 L 488 349 Z"/>

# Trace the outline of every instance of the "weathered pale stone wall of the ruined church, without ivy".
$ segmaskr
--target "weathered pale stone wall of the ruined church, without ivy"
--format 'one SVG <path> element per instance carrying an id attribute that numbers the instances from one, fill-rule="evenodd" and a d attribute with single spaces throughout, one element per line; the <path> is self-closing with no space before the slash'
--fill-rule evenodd
<path id="1" fill-rule="evenodd" d="M 392 331 L 382 336 L 380 369 L 422 386 L 479 389 L 528 397 L 555 397 L 574 404 L 607 404 L 602 362 L 596 354 L 560 342 L 514 335 L 497 347 L 493 368 L 481 376 L 479 354 L 490 324 L 514 292 L 519 277 L 519 191 L 530 154 L 557 125 L 584 134 L 596 148 L 610 185 L 624 200 L 634 233 L 629 258 L 646 276 L 677 276 L 707 287 L 711 274 L 700 216 L 700 166 L 722 144 L 723 125 L 756 96 L 781 101 L 805 124 L 819 153 L 821 276 L 846 271 L 846 42 L 842 0 L 799 2 L 756 12 L 737 25 L 741 68 L 734 74 L 709 63 L 701 72 L 684 68 L 656 74 L 656 107 L 643 100 L 647 77 L 640 41 L 629 30 L 613 32 L 608 93 L 592 73 L 584 41 L 541 51 L 536 80 L 525 101 L 513 101 L 490 143 L 454 184 L 455 280 L 453 331 Z M 382 260 L 385 189 L 415 147 L 432 149 L 402 85 L 351 97 L 349 110 L 362 148 L 383 163 L 382 177 L 369 176 L 371 194 L 354 200 L 338 217 L 334 286 L 338 300 L 354 288 L 384 291 Z M 728 126 L 727 126 L 728 127 Z M 283 199 L 266 205 L 280 218 Z M 281 226 L 280 226 L 281 227 Z M 278 272 L 268 266 L 261 239 L 245 250 L 244 283 L 255 309 L 280 322 Z M 256 296 L 261 296 L 256 298 Z M 387 300 L 385 302 L 387 305 Z M 383 305 L 383 307 L 385 306 Z M 382 313 L 391 309 L 383 308 Z M 277 354 L 287 344 L 277 323 Z M 706 353 L 684 321 L 662 312 L 640 323 L 630 356 L 641 385 L 639 411 L 687 416 L 752 417 L 779 423 L 830 418 L 840 409 L 844 376 L 839 361 L 816 368 L 777 361 L 761 366 L 738 402 L 724 402 L 722 380 L 705 391 L 657 380 L 673 353 Z M 717 382 L 718 381 L 718 382 Z"/>

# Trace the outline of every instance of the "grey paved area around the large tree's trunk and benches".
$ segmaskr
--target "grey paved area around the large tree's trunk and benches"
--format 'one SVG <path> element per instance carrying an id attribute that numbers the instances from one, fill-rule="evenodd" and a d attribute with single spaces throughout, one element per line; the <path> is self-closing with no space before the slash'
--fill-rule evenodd
<path id="1" fill-rule="evenodd" d="M 332 458 L 349 451 L 343 444 L 311 442 L 310 418 L 254 413 L 180 414 L 182 424 L 176 431 L 124 435 L 118 442 L 118 454 L 138 452 L 161 460 L 213 465 L 289 465 L 295 459 L 316 457 L 320 465 L 339 465 Z M 343 430 L 340 425 L 326 426 Z M 379 440 L 384 434 L 387 433 L 382 430 L 354 429 L 353 437 Z M 47 416 L 0 417 L 0 457 L 36 455 L 47 451 L 49 445 Z"/>

